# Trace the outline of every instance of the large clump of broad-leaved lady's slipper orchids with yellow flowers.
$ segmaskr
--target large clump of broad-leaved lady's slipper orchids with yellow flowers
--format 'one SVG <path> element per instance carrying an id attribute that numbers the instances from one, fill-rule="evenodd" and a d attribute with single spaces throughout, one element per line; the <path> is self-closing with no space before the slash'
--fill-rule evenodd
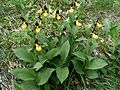
<path id="1" fill-rule="evenodd" d="M 21 17 L 21 30 L 12 33 L 22 43 L 13 49 L 23 66 L 11 71 L 16 90 L 87 89 L 88 79 L 119 59 L 119 27 L 107 18 L 91 22 L 83 4 L 66 3 L 62 10 L 40 5 L 34 16 Z"/>

